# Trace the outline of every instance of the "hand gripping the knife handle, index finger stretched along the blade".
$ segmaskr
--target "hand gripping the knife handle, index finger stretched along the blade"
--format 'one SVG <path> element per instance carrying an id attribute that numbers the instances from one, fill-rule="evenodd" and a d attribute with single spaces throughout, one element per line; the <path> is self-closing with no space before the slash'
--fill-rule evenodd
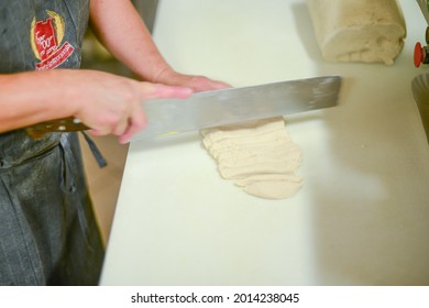
<path id="1" fill-rule="evenodd" d="M 73 75 L 74 72 L 72 72 Z M 190 88 L 164 86 L 96 70 L 76 70 L 74 117 L 94 135 L 117 135 L 127 143 L 144 129 L 146 118 L 142 102 L 157 98 L 187 98 Z"/>

